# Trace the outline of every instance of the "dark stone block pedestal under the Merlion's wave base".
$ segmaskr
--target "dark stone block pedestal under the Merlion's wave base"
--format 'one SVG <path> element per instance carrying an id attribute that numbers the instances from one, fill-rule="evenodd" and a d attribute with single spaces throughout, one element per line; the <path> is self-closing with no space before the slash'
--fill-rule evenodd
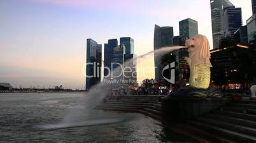
<path id="1" fill-rule="evenodd" d="M 229 97 L 166 97 L 162 101 L 162 120 L 184 121 L 196 118 L 224 106 Z"/>

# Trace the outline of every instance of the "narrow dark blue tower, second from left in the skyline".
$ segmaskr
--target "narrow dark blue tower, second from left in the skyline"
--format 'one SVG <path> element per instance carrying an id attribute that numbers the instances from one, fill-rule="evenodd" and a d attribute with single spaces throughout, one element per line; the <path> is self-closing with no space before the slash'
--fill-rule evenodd
<path id="1" fill-rule="evenodd" d="M 104 44 L 104 67 L 111 69 L 111 59 L 113 55 L 113 49 L 114 47 L 117 47 L 118 41 L 117 39 L 110 39 L 108 40 L 108 44 Z M 104 68 L 104 76 L 107 76 L 109 73 L 109 70 L 106 70 Z"/>

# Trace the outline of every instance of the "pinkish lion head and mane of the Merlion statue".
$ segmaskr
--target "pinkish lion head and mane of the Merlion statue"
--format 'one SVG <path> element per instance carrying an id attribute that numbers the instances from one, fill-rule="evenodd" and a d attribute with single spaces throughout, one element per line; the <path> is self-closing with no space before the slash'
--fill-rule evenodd
<path id="1" fill-rule="evenodd" d="M 188 56 L 191 59 L 191 65 L 196 66 L 201 63 L 212 67 L 210 62 L 210 44 L 205 35 L 195 35 L 186 40 L 185 46 L 188 48 Z"/>

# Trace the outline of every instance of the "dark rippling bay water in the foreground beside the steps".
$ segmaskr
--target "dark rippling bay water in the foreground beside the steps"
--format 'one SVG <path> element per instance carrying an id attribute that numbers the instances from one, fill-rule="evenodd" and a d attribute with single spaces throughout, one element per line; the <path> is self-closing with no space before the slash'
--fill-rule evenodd
<path id="1" fill-rule="evenodd" d="M 78 104 L 82 96 L 0 94 L 0 142 L 195 142 L 144 115 L 87 112 L 86 105 Z M 73 123 L 60 123 L 76 111 L 68 117 Z"/>

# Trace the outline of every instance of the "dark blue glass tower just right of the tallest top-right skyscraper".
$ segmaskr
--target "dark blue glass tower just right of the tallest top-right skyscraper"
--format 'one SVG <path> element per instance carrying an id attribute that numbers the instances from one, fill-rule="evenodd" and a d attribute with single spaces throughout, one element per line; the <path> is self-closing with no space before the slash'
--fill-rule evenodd
<path id="1" fill-rule="evenodd" d="M 243 25 L 242 9 L 235 6 L 224 9 L 224 35 L 233 37 L 234 32 Z"/>

